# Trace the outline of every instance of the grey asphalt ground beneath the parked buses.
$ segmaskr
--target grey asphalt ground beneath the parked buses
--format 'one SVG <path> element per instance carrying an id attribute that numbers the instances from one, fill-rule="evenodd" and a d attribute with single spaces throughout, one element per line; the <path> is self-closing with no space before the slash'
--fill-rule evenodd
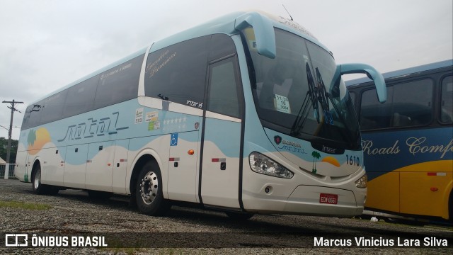
<path id="1" fill-rule="evenodd" d="M 11 179 L 0 179 L 0 205 L 0 254 L 453 254 L 453 227 L 437 225 L 300 215 L 238 221 L 176 206 L 151 217 L 125 196 L 39 196 Z"/>

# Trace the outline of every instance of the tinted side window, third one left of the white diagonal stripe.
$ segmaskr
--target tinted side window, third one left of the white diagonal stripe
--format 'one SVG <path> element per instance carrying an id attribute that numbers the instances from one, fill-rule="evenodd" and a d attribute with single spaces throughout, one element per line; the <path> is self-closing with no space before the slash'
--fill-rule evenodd
<path id="1" fill-rule="evenodd" d="M 62 118 L 64 102 L 66 101 L 67 94 L 68 90 L 65 89 L 64 91 L 53 94 L 42 101 L 40 125 Z"/>

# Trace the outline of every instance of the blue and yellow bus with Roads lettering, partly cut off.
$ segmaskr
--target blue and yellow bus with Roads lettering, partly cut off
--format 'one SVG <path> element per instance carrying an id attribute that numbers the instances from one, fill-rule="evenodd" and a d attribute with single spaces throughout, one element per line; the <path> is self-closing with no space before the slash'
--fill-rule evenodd
<path id="1" fill-rule="evenodd" d="M 386 103 L 377 101 L 369 79 L 348 81 L 369 181 L 366 213 L 420 221 L 453 219 L 452 63 L 383 74 Z"/>

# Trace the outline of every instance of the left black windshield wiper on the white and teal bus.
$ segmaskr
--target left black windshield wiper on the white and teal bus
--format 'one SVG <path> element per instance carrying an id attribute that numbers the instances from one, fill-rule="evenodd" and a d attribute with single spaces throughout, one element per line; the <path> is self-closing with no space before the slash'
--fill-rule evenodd
<path id="1" fill-rule="evenodd" d="M 314 109 L 314 115 L 316 118 L 316 121 L 318 121 L 319 124 L 319 109 L 318 109 L 318 100 L 316 98 L 316 91 L 315 91 L 315 86 L 314 86 L 314 79 L 313 76 L 311 75 L 311 70 L 309 67 L 309 63 L 305 64 L 306 67 L 306 79 L 309 84 L 309 91 L 306 91 L 306 95 L 304 98 L 304 102 L 302 103 L 302 106 L 299 109 L 299 113 L 297 113 L 296 120 L 294 120 L 294 123 L 292 124 L 291 127 L 291 135 L 299 135 L 300 130 L 304 128 L 304 124 L 306 121 L 306 118 L 309 115 L 309 101 L 311 101 L 311 106 Z"/>

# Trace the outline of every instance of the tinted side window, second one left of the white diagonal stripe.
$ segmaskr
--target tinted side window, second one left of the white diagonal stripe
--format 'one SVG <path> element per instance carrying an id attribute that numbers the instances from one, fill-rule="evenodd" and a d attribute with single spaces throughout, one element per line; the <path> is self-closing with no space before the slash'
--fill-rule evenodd
<path id="1" fill-rule="evenodd" d="M 69 88 L 69 96 L 64 106 L 63 118 L 86 113 L 93 109 L 98 81 L 99 75 L 96 75 Z"/>

